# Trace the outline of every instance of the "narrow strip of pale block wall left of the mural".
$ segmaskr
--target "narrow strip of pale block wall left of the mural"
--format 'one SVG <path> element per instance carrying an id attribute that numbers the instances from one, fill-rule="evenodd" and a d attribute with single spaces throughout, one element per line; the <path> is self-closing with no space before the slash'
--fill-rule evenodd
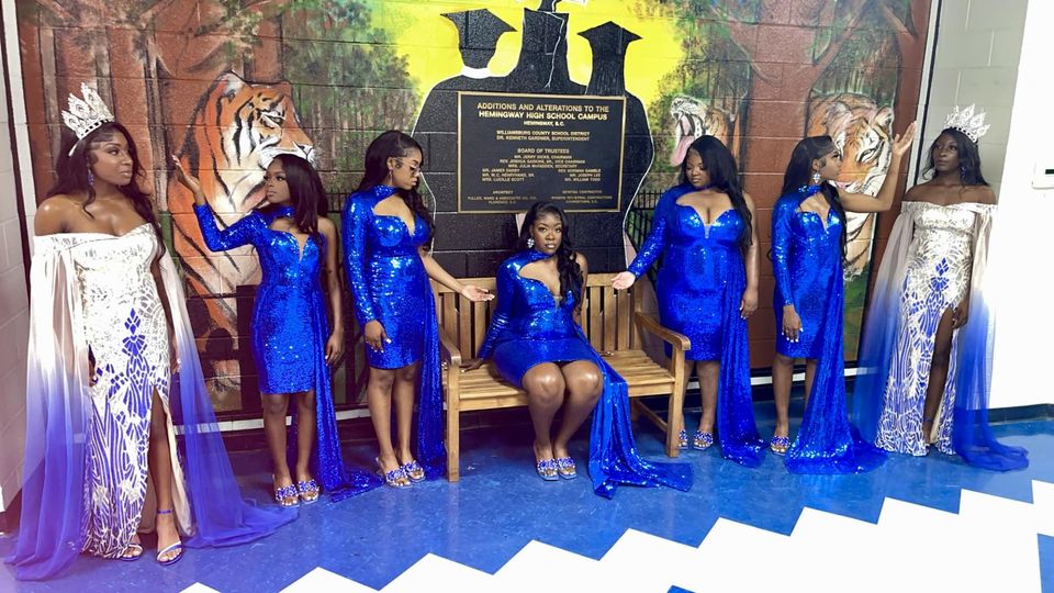
<path id="1" fill-rule="evenodd" d="M 4 0 L 3 11 L 4 14 L 14 14 L 13 2 Z M 18 57 L 14 19 L 5 21 L 8 45 L 14 44 L 14 56 Z M 15 109 L 15 121 L 11 121 L 4 88 L 8 77 L 7 72 L 0 74 L 4 75 L 0 76 L 0 511 L 4 511 L 22 486 L 30 310 L 25 256 L 22 253 L 22 223 L 16 203 L 14 150 L 11 146 L 11 131 L 14 127 L 21 127 L 25 133 L 25 110 Z M 21 86 L 14 89 L 14 93 L 21 102 Z"/>

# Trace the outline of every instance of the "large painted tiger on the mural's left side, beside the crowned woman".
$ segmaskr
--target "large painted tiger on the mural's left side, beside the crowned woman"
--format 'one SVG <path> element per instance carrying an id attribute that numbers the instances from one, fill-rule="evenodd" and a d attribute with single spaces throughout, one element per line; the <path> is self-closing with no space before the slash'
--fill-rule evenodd
<path id="1" fill-rule="evenodd" d="M 314 161 L 314 145 L 300 127 L 291 91 L 289 82 L 253 83 L 228 71 L 212 82 L 194 109 L 176 156 L 201 180 L 222 223 L 240 219 L 260 203 L 264 172 L 277 155 Z M 168 183 L 173 244 L 190 292 L 199 296 L 188 305 L 199 348 L 203 346 L 202 366 L 206 377 L 214 377 L 209 387 L 216 401 L 236 405 L 240 369 L 232 339 L 237 335 L 233 294 L 240 284 L 259 282 L 259 262 L 251 247 L 210 251 L 192 205 L 193 195 L 173 176 Z"/>

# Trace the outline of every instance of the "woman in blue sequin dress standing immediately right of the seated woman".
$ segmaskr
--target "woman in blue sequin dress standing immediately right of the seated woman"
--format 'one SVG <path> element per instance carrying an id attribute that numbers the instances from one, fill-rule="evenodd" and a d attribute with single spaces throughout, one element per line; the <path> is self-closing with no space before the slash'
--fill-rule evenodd
<path id="1" fill-rule="evenodd" d="M 655 282 L 662 325 L 692 343 L 688 376 L 699 378 L 703 416 L 692 439 L 714 444 L 744 466 L 761 463 L 750 390 L 747 317 L 758 309 L 758 233 L 754 203 L 739 184 L 731 153 L 714 136 L 692 143 L 681 164 L 681 184 L 655 206 L 651 232 L 628 271 L 613 282 L 629 288 L 663 256 Z M 684 426 L 684 418 L 671 418 Z M 681 447 L 687 434 L 680 432 Z"/>

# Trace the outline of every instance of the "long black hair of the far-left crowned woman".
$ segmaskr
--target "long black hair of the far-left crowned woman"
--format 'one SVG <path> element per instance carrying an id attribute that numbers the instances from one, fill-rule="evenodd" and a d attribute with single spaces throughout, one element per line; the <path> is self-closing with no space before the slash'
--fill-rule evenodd
<path id="1" fill-rule="evenodd" d="M 55 164 L 55 184 L 47 190 L 45 198 L 59 194 L 85 194 L 87 198 L 80 208 L 89 217 L 93 217 L 91 212 L 88 212 L 88 204 L 96 201 L 96 188 L 92 187 L 89 178 L 91 166 L 96 163 L 91 148 L 110 141 L 114 134 L 124 135 L 124 139 L 128 143 L 128 156 L 132 157 L 132 181 L 126 186 L 117 187 L 117 190 L 128 199 L 136 214 L 154 227 L 154 233 L 157 234 L 157 242 L 160 245 L 159 254 L 164 254 L 165 239 L 161 234 L 161 225 L 157 216 L 154 215 L 154 200 L 150 199 L 149 193 L 143 191 L 139 183 L 146 175 L 143 171 L 143 164 L 139 163 L 135 141 L 132 139 L 128 128 L 117 122 L 104 123 L 81 139 L 77 139 L 77 136 L 69 130 L 63 130 L 61 147 L 59 148 L 58 161 Z"/>

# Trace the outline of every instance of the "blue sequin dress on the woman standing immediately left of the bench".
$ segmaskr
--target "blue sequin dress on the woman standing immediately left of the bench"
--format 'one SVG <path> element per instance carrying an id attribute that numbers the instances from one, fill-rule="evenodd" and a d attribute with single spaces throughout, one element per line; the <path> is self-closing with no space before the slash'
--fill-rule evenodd
<path id="1" fill-rule="evenodd" d="M 359 327 L 371 321 L 384 326 L 391 342 L 383 351 L 366 348 L 374 369 L 399 369 L 421 361 L 417 461 L 428 478 L 442 474 L 442 387 L 439 327 L 421 247 L 428 226 L 414 216 L 411 230 L 399 216 L 373 213 L 395 188 L 374 186 L 348 197 L 344 205 L 344 264 Z"/>

